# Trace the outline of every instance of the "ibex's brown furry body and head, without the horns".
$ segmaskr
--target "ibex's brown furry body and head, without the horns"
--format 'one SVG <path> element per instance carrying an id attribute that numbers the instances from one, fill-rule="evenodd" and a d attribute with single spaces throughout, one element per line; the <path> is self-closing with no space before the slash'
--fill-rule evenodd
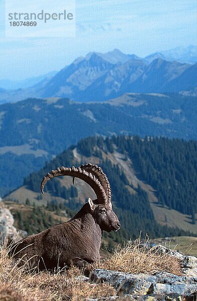
<path id="1" fill-rule="evenodd" d="M 40 270 L 98 261 L 103 230 L 116 231 L 120 223 L 111 204 L 95 203 L 90 200 L 68 222 L 15 243 L 11 250 L 14 258 L 29 258 L 31 268 Z M 18 264 L 23 263 L 21 260 Z"/>

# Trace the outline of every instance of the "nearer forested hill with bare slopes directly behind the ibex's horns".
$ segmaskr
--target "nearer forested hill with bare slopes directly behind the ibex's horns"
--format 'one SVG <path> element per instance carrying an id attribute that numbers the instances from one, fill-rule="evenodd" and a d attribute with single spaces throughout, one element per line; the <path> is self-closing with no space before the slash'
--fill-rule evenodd
<path id="1" fill-rule="evenodd" d="M 141 230 L 143 235 L 148 232 L 150 237 L 189 234 L 188 231 L 168 227 L 167 218 L 162 223 L 157 222 L 150 204 L 151 200 L 137 178 L 143 180 L 142 183 L 152 185 L 158 198 L 158 205 L 188 214 L 193 228 L 187 229 L 197 233 L 195 141 L 170 140 L 163 137 L 142 139 L 138 136 L 85 138 L 80 140 L 76 147 L 70 147 L 46 163 L 39 173 L 33 173 L 25 178 L 24 187 L 9 195 L 6 200 L 16 201 L 18 198 L 18 202 L 24 202 L 24 195 L 20 193 L 25 189 L 26 196 L 28 191 L 34 193 L 31 203 L 36 202 L 38 206 L 47 208 L 63 204 L 65 208 L 75 212 L 90 196 L 86 187 L 81 186 L 81 180 L 72 186 L 68 179 L 70 177 L 53 179 L 47 183 L 44 197 L 40 194 L 40 183 L 43 176 L 52 169 L 61 166 L 79 166 L 87 162 L 102 166 L 111 183 L 114 210 L 122 224 L 121 231 L 110 234 L 113 240 L 135 238 Z"/>

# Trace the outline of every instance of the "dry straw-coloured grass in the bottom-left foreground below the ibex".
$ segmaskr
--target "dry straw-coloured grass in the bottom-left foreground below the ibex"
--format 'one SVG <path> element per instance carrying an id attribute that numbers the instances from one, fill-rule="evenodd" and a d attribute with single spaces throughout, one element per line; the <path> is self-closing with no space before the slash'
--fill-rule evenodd
<path id="1" fill-rule="evenodd" d="M 110 284 L 96 285 L 82 278 L 76 267 L 57 273 L 32 274 L 27 272 L 27 265 L 19 268 L 13 262 L 6 245 L 0 251 L 0 301 L 80 301 L 85 297 L 116 294 Z"/>

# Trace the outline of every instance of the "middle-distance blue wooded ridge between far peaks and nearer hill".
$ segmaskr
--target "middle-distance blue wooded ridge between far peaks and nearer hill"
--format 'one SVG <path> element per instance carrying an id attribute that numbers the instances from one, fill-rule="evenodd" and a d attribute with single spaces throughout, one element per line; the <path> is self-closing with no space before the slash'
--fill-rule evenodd
<path id="1" fill-rule="evenodd" d="M 197 139 L 196 97 L 125 93 L 105 102 L 26 99 L 0 105 L 0 194 L 19 187 L 81 138 L 102 135 Z M 5 172 L 6 171 L 6 172 Z"/>

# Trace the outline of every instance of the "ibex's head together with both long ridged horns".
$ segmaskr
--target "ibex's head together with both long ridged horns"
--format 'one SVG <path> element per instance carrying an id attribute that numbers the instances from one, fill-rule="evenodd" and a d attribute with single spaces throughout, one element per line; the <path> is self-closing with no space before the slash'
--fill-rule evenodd
<path id="1" fill-rule="evenodd" d="M 41 183 L 41 191 L 44 190 L 45 184 L 52 178 L 58 176 L 72 176 L 73 184 L 74 179 L 79 178 L 84 180 L 94 190 L 97 199 L 88 199 L 90 205 L 90 212 L 95 219 L 96 223 L 100 226 L 101 230 L 107 232 L 117 231 L 120 229 L 120 222 L 112 210 L 111 204 L 111 188 L 107 176 L 103 170 L 97 165 L 87 164 L 81 165 L 78 168 L 57 168 L 55 171 L 48 173 L 43 178 Z"/>

